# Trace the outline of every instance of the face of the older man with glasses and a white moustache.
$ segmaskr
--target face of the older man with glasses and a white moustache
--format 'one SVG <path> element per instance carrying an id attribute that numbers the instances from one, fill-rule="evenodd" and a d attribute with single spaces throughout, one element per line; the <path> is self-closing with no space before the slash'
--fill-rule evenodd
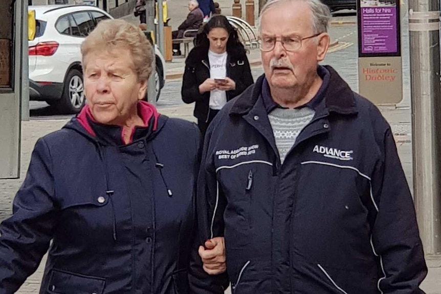
<path id="1" fill-rule="evenodd" d="M 260 38 L 263 40 L 315 35 L 312 12 L 304 2 L 283 3 L 263 13 Z M 327 34 L 301 41 L 297 51 L 286 51 L 280 41 L 272 51 L 261 51 L 263 71 L 271 87 L 293 88 L 311 82 L 318 62 L 324 59 L 329 42 Z"/>

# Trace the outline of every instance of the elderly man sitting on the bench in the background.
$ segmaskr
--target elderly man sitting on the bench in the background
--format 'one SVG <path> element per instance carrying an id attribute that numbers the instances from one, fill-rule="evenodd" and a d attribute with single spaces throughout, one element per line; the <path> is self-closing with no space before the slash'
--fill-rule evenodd
<path id="1" fill-rule="evenodd" d="M 188 10 L 190 11 L 187 18 L 179 25 L 177 31 L 171 32 L 172 39 L 181 39 L 184 37 L 186 30 L 199 30 L 204 20 L 204 13 L 199 9 L 199 3 L 196 0 L 190 0 L 188 2 Z M 188 32 L 185 37 L 193 37 L 196 35 L 196 31 Z M 180 44 L 173 44 L 173 56 L 181 55 Z"/>

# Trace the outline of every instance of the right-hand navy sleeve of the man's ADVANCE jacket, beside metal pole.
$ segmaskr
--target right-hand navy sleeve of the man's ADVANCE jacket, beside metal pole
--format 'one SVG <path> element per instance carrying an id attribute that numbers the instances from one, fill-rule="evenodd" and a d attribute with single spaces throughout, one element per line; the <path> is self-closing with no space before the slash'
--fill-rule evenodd
<path id="1" fill-rule="evenodd" d="M 395 294 L 424 294 L 419 288 L 427 275 L 406 177 L 390 128 L 383 138 L 383 160 L 371 179 L 377 217 L 372 229 L 372 249 L 379 257 L 384 278 L 379 289 Z"/>

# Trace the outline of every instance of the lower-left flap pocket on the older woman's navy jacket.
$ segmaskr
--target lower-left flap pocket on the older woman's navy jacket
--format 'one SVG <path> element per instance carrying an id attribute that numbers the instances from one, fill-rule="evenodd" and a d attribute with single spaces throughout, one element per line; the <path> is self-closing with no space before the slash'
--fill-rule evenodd
<path id="1" fill-rule="evenodd" d="M 105 279 L 53 269 L 49 280 L 51 294 L 102 294 Z"/>

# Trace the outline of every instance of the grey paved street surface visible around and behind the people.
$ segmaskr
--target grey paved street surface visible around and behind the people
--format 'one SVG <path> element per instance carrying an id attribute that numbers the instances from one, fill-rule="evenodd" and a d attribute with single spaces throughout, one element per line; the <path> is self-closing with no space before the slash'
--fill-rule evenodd
<path id="1" fill-rule="evenodd" d="M 171 17 L 171 26 L 177 27 L 185 18 L 188 10 L 186 8 L 187 1 L 168 0 L 169 17 Z M 217 1 L 222 8 L 222 13 L 231 15 L 231 0 Z M 242 2 L 242 9 L 245 5 Z M 256 5 L 257 6 L 257 5 Z M 257 9 L 257 7 L 256 7 Z M 245 9 L 244 9 L 245 10 Z M 406 11 L 404 8 L 402 11 Z M 245 11 L 244 11 L 245 12 Z M 403 13 L 404 14 L 404 13 Z M 403 15 L 403 19 L 405 15 Z M 124 19 L 138 24 L 137 18 L 128 15 Z M 256 19 L 257 24 L 258 19 Z M 351 17 L 334 17 L 330 35 L 335 43 L 330 49 L 324 63 L 334 66 L 334 68 L 348 82 L 352 89 L 358 90 L 357 77 L 357 33 L 356 33 L 356 16 Z M 403 32 L 407 31 L 407 25 L 403 23 Z M 383 116 L 391 125 L 394 134 L 395 143 L 400 155 L 403 169 L 406 174 L 409 186 L 412 189 L 412 135 L 411 135 L 411 115 L 410 115 L 410 81 L 409 81 L 409 56 L 406 52 L 408 47 L 408 37 L 403 35 L 403 101 L 398 105 L 379 106 Z M 253 66 L 252 72 L 254 78 L 262 73 L 259 65 L 259 51 L 252 49 L 249 52 L 249 60 Z M 181 101 L 180 91 L 181 81 L 179 80 L 183 72 L 185 58 L 174 58 L 172 62 L 166 64 L 166 76 L 168 80 L 162 91 L 160 101 L 158 102 L 158 110 L 169 117 L 178 117 L 190 121 L 194 121 L 192 115 L 193 105 L 184 104 Z M 23 122 L 21 126 L 21 176 L 20 179 L 0 180 L 0 220 L 11 214 L 12 199 L 18 190 L 29 165 L 30 155 L 35 142 L 38 138 L 60 129 L 67 121 L 65 116 L 46 116 L 33 117 L 28 122 Z M 429 267 L 427 278 L 422 284 L 422 289 L 427 294 L 441 294 L 441 256 L 426 256 L 426 262 Z M 40 266 L 35 274 L 28 278 L 26 283 L 16 292 L 19 294 L 37 294 L 39 284 L 42 277 L 45 264 L 43 258 Z M 231 293 L 229 290 L 226 293 Z M 358 294 L 358 293 L 352 293 Z"/>

